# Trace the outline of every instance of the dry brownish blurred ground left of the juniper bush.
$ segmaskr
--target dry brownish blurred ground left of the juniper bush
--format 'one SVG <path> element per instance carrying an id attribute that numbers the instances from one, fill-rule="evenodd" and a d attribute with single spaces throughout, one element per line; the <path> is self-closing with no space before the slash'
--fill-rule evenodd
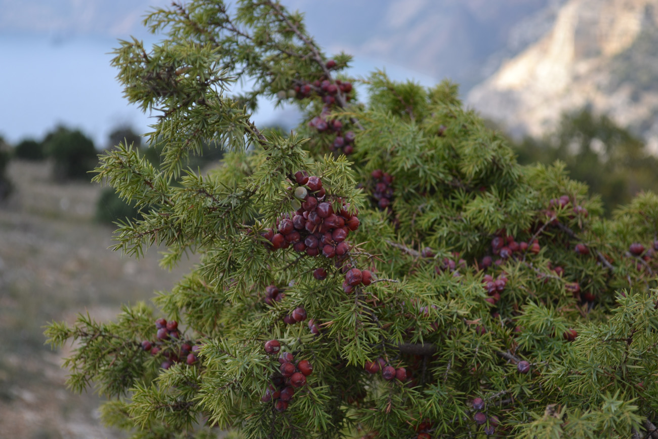
<path id="1" fill-rule="evenodd" d="M 94 222 L 100 187 L 57 184 L 47 163 L 13 161 L 11 198 L 0 205 L 0 437 L 120 438 L 101 425 L 93 392 L 66 389 L 63 351 L 43 326 L 89 311 L 113 319 L 121 303 L 149 301 L 188 271 L 159 268 L 155 249 L 136 261 L 107 249 L 113 226 Z"/>

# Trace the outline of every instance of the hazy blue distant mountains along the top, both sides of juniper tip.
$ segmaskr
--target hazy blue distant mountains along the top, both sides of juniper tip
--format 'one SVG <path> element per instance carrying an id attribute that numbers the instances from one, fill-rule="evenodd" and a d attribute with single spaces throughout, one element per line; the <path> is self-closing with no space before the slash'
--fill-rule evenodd
<path id="1" fill-rule="evenodd" d="M 484 80 L 505 56 L 536 41 L 551 24 L 551 5 L 563 0 L 280 0 L 306 16 L 307 28 L 328 53 L 344 50 L 379 67 L 403 66 L 450 78 L 462 91 Z M 0 36 L 155 39 L 141 25 L 154 7 L 171 0 L 4 1 Z M 186 3 L 183 1 L 182 3 Z M 228 0 L 235 5 L 236 1 Z M 544 13 L 544 16 L 537 16 Z M 540 14 L 541 15 L 541 14 Z M 539 18 L 531 20 L 529 16 Z M 492 55 L 497 55 L 492 57 Z"/>

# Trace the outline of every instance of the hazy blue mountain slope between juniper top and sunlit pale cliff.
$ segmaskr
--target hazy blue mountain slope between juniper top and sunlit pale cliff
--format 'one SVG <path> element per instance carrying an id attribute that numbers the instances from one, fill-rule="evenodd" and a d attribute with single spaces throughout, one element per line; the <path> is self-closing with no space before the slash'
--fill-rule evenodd
<path id="1" fill-rule="evenodd" d="M 468 91 L 537 41 L 564 0 L 283 0 L 328 51 L 449 78 Z M 532 18 L 530 22 L 528 19 Z M 526 24 L 524 26 L 524 24 Z M 528 24 L 530 24 L 528 26 Z"/>

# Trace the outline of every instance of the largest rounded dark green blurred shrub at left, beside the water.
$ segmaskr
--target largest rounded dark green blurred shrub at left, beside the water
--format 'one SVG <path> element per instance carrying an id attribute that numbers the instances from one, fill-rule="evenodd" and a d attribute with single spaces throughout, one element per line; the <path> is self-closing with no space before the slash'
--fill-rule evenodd
<path id="1" fill-rule="evenodd" d="M 80 130 L 69 130 L 60 126 L 48 134 L 44 140 L 46 154 L 55 160 L 55 178 L 89 179 L 87 172 L 97 161 L 97 151 L 93 142 Z"/>

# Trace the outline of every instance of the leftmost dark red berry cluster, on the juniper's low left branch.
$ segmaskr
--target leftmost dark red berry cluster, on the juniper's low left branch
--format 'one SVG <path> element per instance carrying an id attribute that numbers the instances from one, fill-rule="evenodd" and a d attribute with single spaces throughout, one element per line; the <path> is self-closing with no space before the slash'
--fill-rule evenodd
<path id="1" fill-rule="evenodd" d="M 144 340 L 141 342 L 141 348 L 150 352 L 151 355 L 163 355 L 166 358 L 161 364 L 163 369 L 169 369 L 174 363 L 182 363 L 183 361 L 188 365 L 197 363 L 197 351 L 201 347 L 193 344 L 193 342 L 180 340 L 178 322 L 157 319 L 155 327 L 157 328 L 157 341 Z"/>

